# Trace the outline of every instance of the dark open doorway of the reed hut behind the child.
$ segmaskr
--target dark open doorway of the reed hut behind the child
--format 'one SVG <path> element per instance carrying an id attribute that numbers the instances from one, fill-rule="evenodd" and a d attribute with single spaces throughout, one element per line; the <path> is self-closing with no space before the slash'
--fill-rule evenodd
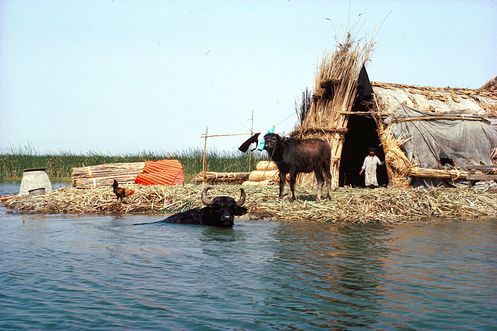
<path id="1" fill-rule="evenodd" d="M 376 122 L 368 116 L 350 115 L 348 131 L 344 135 L 343 148 L 338 174 L 339 186 L 364 187 L 364 174 L 360 175 L 364 158 L 370 147 L 376 147 L 376 155 L 385 161 L 383 146 L 380 145 Z M 378 185 L 388 185 L 388 174 L 385 165 L 376 168 Z"/>

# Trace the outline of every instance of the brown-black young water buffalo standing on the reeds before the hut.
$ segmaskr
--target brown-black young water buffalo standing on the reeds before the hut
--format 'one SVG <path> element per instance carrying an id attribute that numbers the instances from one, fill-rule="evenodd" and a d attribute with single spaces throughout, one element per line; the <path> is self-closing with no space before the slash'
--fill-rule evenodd
<path id="1" fill-rule="evenodd" d="M 327 142 L 321 139 L 289 139 L 280 137 L 275 133 L 268 133 L 264 136 L 264 149 L 271 157 L 271 160 L 278 166 L 280 197 L 283 196 L 287 173 L 290 173 L 292 198 L 297 200 L 295 194 L 297 174 L 314 171 L 318 180 L 316 200 L 321 200 L 321 191 L 325 180 L 328 187 L 327 197 L 331 199 L 331 148 Z"/>

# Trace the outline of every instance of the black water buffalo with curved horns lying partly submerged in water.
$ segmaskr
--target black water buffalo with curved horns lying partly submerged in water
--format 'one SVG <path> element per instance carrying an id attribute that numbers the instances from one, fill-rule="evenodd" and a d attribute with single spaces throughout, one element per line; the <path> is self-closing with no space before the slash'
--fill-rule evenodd
<path id="1" fill-rule="evenodd" d="M 247 214 L 247 208 L 242 207 L 245 203 L 245 191 L 240 189 L 241 195 L 238 201 L 229 196 L 218 196 L 214 199 L 207 198 L 207 191 L 212 187 L 206 187 L 202 190 L 202 202 L 206 205 L 204 208 L 194 208 L 185 212 L 177 213 L 168 218 L 153 223 L 179 223 L 179 224 L 199 224 L 210 225 L 220 228 L 233 227 L 234 216 Z M 152 223 L 140 223 L 152 224 Z"/>

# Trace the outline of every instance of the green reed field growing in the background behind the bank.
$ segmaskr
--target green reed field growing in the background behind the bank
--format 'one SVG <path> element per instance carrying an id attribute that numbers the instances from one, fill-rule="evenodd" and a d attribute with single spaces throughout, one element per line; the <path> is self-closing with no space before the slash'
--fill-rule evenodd
<path id="1" fill-rule="evenodd" d="M 103 155 L 99 152 L 83 154 L 58 152 L 45 155 L 36 152 L 29 145 L 10 147 L 0 150 L 0 180 L 20 180 L 23 169 L 47 168 L 50 179 L 70 182 L 74 167 L 176 159 L 183 165 L 184 178 L 188 182 L 202 171 L 203 154 L 202 149 L 189 149 L 174 152 L 143 151 L 124 155 Z M 231 152 L 210 150 L 207 152 L 207 171 L 249 172 L 255 169 L 255 164 L 258 161 L 267 159 L 266 153 L 255 151 L 252 154 L 249 169 L 249 153 L 242 153 L 238 150 Z"/>

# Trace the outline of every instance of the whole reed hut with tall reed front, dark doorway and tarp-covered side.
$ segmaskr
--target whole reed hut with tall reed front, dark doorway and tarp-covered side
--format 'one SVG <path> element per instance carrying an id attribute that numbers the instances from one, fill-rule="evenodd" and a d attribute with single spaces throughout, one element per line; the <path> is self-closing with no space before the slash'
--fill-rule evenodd
<path id="1" fill-rule="evenodd" d="M 492 164 L 497 78 L 479 89 L 370 82 L 372 45 L 348 34 L 324 54 L 314 91 L 296 107 L 290 137 L 330 144 L 332 186 L 363 186 L 359 171 L 372 146 L 386 165 L 378 167 L 379 184 L 395 188 L 462 187 L 467 165 Z M 316 180 L 301 174 L 297 183 Z"/>

